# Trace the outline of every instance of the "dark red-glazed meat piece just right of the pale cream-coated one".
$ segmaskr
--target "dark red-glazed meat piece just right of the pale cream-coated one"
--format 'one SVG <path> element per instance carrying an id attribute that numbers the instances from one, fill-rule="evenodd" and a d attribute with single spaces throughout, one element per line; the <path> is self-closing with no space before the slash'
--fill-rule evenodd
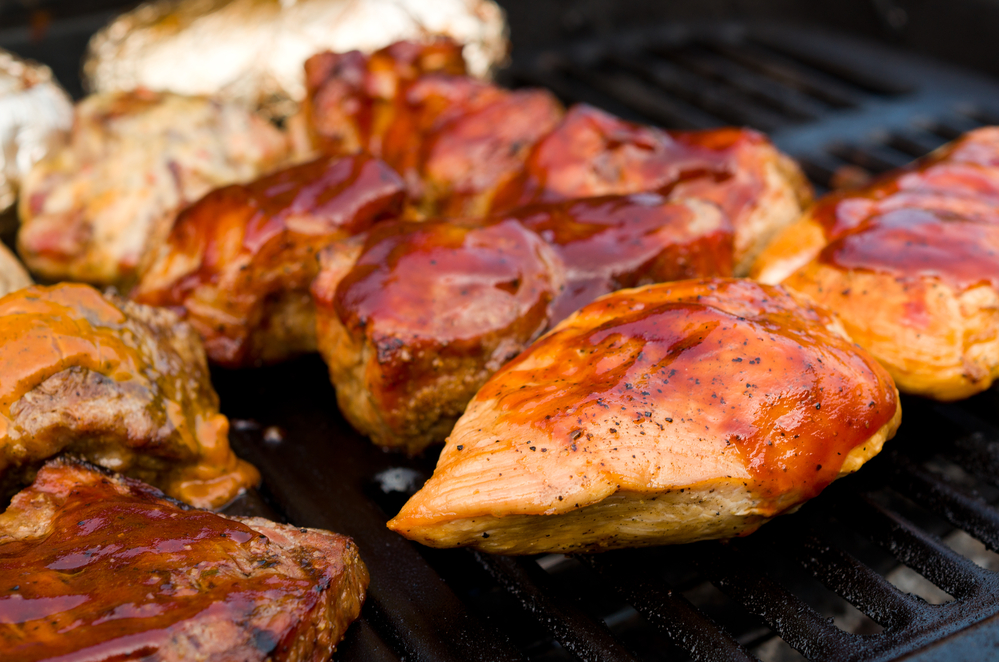
<path id="1" fill-rule="evenodd" d="M 212 191 L 184 210 L 132 291 L 177 310 L 234 368 L 316 351 L 316 254 L 402 209 L 402 179 L 364 154 Z"/>

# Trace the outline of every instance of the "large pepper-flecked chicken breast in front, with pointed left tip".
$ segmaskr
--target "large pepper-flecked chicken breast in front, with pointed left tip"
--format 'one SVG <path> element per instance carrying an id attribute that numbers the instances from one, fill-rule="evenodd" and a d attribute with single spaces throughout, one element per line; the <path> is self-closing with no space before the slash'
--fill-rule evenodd
<path id="1" fill-rule="evenodd" d="M 622 290 L 486 382 L 388 526 L 506 554 L 746 535 L 856 471 L 900 418 L 877 361 L 779 287 Z"/>

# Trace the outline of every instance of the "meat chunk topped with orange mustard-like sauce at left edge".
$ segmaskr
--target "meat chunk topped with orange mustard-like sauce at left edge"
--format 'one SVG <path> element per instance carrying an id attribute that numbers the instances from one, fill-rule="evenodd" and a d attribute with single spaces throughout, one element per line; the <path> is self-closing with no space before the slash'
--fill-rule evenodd
<path id="1" fill-rule="evenodd" d="M 0 374 L 0 487 L 63 451 L 206 508 L 259 482 L 229 448 L 197 334 L 168 310 L 18 290 L 0 299 Z"/>

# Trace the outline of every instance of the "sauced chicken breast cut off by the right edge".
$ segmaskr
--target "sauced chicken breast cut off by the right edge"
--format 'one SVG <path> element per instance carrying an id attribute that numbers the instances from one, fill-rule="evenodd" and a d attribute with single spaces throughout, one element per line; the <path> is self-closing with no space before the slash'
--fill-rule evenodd
<path id="1" fill-rule="evenodd" d="M 753 273 L 836 312 L 902 391 L 999 376 L 999 128 L 973 131 L 792 225 Z"/>

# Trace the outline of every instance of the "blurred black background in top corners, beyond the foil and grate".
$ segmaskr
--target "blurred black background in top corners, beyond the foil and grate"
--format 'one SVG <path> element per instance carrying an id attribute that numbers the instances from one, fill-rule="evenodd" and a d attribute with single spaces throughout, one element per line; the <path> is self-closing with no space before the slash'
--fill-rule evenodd
<path id="1" fill-rule="evenodd" d="M 74 96 L 90 35 L 122 0 L 0 0 L 0 45 L 52 67 Z M 999 76 L 999 0 L 499 0 L 513 58 L 630 27 L 691 20 L 797 23 L 874 38 Z M 55 42 L 55 44 L 53 44 Z"/>

